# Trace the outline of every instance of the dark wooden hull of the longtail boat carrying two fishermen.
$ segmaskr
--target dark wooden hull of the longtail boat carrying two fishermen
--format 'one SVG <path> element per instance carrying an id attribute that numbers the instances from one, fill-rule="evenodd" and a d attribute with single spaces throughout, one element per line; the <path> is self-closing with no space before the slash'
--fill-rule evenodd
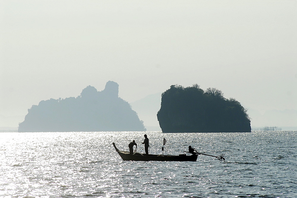
<path id="1" fill-rule="evenodd" d="M 179 155 L 156 155 L 156 154 L 141 154 L 141 153 L 134 153 L 130 154 L 127 151 L 120 151 L 115 143 L 112 143 L 116 152 L 119 153 L 123 160 L 132 160 L 132 161 L 192 161 L 196 162 L 197 155 L 186 155 L 186 154 L 179 154 Z"/>

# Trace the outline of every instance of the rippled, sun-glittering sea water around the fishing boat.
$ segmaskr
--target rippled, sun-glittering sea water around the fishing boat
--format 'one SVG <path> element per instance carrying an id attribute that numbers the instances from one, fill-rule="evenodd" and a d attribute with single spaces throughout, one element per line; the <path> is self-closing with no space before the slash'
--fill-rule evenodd
<path id="1" fill-rule="evenodd" d="M 143 153 L 182 154 L 197 162 L 123 161 L 135 140 Z M 0 133 L 1 197 L 296 197 L 297 131 L 251 133 Z"/>

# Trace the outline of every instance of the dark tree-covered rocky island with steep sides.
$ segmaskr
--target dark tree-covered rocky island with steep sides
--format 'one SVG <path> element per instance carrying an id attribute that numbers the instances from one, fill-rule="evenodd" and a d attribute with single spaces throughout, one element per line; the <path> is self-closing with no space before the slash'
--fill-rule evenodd
<path id="1" fill-rule="evenodd" d="M 157 113 L 162 132 L 251 132 L 247 110 L 216 88 L 172 85 L 162 94 Z"/>

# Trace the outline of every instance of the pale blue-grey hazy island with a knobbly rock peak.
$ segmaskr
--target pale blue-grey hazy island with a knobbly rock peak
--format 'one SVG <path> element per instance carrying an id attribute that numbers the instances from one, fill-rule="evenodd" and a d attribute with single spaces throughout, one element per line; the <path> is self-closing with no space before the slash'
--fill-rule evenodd
<path id="1" fill-rule="evenodd" d="M 28 110 L 18 131 L 146 131 L 137 113 L 118 94 L 119 85 L 108 81 L 103 91 L 87 86 L 76 98 L 41 101 Z"/>

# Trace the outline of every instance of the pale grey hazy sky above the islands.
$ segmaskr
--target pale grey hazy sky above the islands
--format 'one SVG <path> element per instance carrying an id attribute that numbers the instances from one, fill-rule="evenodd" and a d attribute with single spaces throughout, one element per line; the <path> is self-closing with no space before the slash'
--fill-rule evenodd
<path id="1" fill-rule="evenodd" d="M 292 119 L 272 124 L 297 126 L 296 0 L 0 0 L 0 50 L 0 126 L 107 81 L 128 102 L 173 84 L 214 87 L 252 125 L 274 111 Z"/>

